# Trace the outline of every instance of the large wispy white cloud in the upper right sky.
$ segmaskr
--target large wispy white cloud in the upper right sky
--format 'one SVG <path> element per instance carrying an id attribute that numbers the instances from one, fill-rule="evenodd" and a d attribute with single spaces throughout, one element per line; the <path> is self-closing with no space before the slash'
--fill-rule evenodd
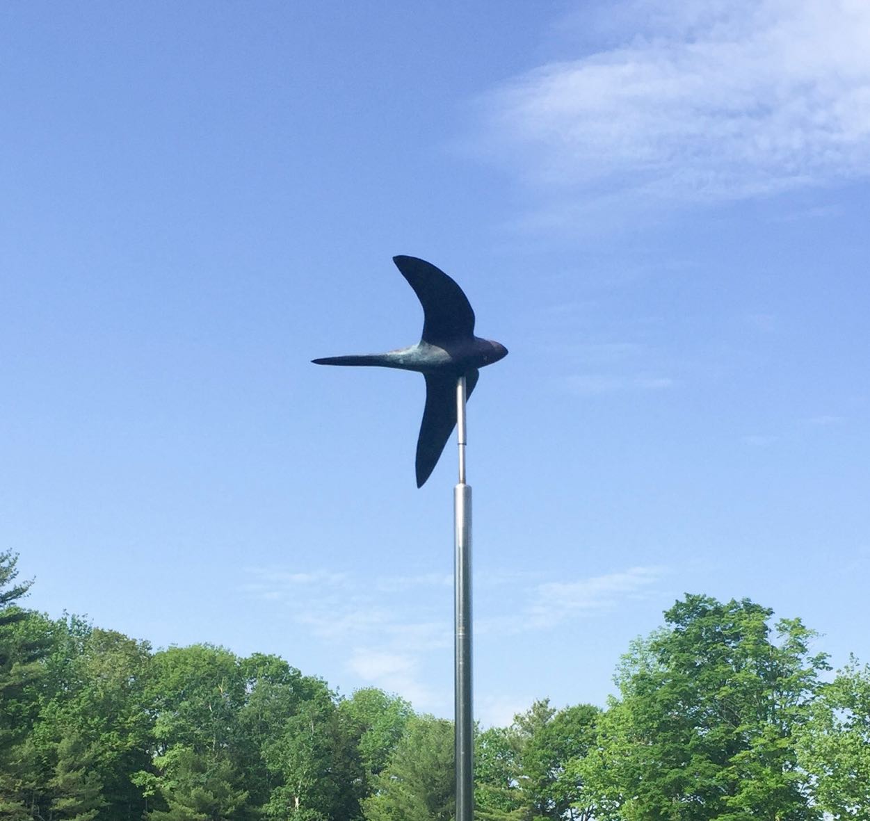
<path id="1" fill-rule="evenodd" d="M 547 190 L 681 200 L 867 177 L 867 0 L 616 6 L 606 50 L 492 95 L 487 150 Z"/>

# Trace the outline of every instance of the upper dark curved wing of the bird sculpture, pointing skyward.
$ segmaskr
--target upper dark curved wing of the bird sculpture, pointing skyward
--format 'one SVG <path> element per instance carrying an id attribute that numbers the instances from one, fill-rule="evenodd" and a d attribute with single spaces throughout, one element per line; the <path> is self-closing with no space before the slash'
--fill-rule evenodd
<path id="1" fill-rule="evenodd" d="M 474 311 L 443 270 L 417 257 L 392 257 L 423 305 L 423 340 L 432 344 L 474 335 Z"/>

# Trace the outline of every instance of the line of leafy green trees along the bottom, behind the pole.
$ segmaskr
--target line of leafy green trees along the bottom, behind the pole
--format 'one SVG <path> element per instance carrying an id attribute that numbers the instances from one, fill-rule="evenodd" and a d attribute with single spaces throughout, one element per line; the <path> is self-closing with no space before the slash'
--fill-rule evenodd
<path id="1" fill-rule="evenodd" d="M 0 819 L 449 821 L 453 731 L 284 659 L 153 651 L 22 606 L 0 553 Z M 800 619 L 687 595 L 619 696 L 478 730 L 478 821 L 870 821 L 870 668 Z"/>

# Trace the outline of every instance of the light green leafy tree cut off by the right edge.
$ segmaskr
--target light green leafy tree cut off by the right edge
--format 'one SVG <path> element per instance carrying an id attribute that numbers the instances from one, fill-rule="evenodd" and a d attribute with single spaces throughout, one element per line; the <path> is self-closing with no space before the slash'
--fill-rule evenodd
<path id="1" fill-rule="evenodd" d="M 833 818 L 870 821 L 870 666 L 852 657 L 810 708 L 800 763 L 815 799 Z"/>

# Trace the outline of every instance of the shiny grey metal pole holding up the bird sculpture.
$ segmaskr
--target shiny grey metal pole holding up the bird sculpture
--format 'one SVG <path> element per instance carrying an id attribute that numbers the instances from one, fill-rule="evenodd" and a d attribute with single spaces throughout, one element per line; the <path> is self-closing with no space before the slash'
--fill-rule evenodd
<path id="1" fill-rule="evenodd" d="M 472 821 L 472 489 L 465 484 L 465 377 L 456 385 L 459 483 L 453 489 L 455 526 L 456 821 Z"/>

